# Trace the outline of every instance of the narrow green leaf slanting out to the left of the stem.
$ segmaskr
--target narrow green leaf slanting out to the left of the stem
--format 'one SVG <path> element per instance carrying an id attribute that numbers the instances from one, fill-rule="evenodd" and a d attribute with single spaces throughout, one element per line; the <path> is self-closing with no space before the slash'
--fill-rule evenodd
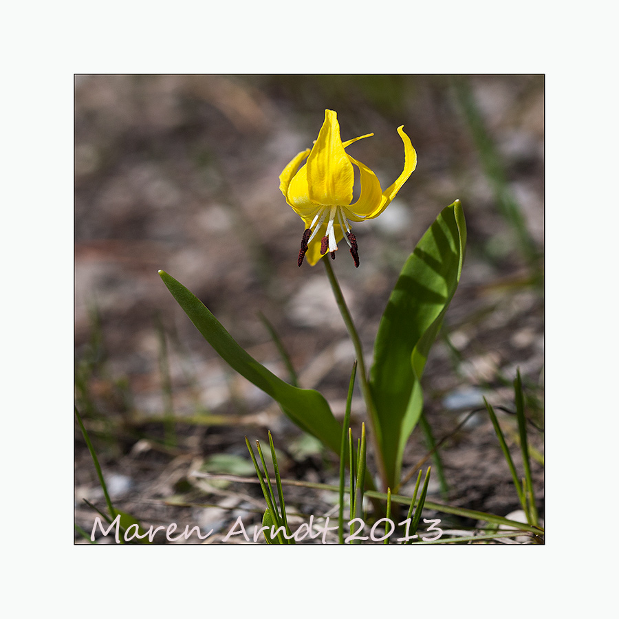
<path id="1" fill-rule="evenodd" d="M 195 294 L 166 272 L 159 274 L 197 330 L 232 369 L 279 402 L 283 412 L 297 426 L 320 439 L 335 453 L 340 452 L 342 428 L 322 393 L 292 387 L 275 376 L 235 342 Z"/>

